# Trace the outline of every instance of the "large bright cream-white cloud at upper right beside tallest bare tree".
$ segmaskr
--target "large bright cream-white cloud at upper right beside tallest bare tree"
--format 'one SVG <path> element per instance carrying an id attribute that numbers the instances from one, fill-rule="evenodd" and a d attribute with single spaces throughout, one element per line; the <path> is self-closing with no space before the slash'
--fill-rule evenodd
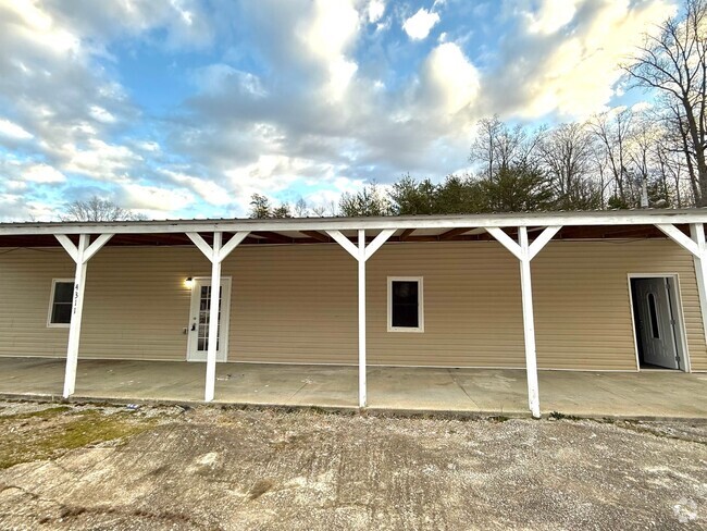
<path id="1" fill-rule="evenodd" d="M 489 112 L 523 119 L 555 112 L 582 119 L 601 110 L 617 95 L 621 62 L 646 30 L 674 13 L 667 0 L 561 3 L 555 12 L 551 0 L 538 12 L 514 12 L 519 30 L 501 50 L 503 66 L 484 79 Z M 535 23 L 529 27 L 530 20 Z M 571 33 L 557 30 L 569 21 Z"/>

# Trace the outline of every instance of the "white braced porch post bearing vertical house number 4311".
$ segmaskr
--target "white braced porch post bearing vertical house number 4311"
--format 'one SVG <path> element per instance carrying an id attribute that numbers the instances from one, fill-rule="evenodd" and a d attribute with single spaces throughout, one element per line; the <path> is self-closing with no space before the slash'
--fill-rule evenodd
<path id="1" fill-rule="evenodd" d="M 58 234 L 57 239 L 66 249 L 76 263 L 74 273 L 74 294 L 71 307 L 71 323 L 69 325 L 69 345 L 66 347 L 66 370 L 64 372 L 64 398 L 69 398 L 76 390 L 76 368 L 78 366 L 78 344 L 80 341 L 80 323 L 84 314 L 84 291 L 86 287 L 86 268 L 88 260 L 100 250 L 111 238 L 111 234 L 101 234 L 89 245 L 88 234 L 78 236 L 78 246 L 65 235 Z"/>

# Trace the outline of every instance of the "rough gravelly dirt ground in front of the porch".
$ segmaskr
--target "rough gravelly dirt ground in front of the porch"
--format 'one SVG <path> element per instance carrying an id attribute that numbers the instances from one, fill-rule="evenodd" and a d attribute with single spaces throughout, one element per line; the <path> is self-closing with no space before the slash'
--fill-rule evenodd
<path id="1" fill-rule="evenodd" d="M 0 403 L 0 529 L 707 528 L 705 424 Z"/>

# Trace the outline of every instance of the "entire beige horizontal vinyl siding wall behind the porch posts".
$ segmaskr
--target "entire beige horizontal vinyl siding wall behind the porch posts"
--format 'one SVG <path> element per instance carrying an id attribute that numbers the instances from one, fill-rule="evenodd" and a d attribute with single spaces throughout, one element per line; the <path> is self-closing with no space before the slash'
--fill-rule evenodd
<path id="1" fill-rule="evenodd" d="M 678 273 L 693 370 L 707 351 L 690 255 L 668 240 L 553 242 L 533 261 L 541 368 L 635 370 L 628 273 Z M 61 249 L 0 255 L 0 356 L 63 356 L 48 329 Z M 88 264 L 80 357 L 186 358 L 194 247 L 104 248 Z M 238 247 L 232 361 L 357 362 L 357 266 L 337 245 Z M 424 333 L 387 332 L 387 276 L 424 277 Z M 368 262 L 372 365 L 524 367 L 518 260 L 494 242 L 388 244 Z"/>

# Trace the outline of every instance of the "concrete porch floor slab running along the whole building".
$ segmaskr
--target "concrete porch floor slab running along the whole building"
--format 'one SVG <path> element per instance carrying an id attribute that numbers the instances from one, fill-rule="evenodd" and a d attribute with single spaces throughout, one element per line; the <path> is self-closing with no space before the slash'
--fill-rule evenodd
<path id="1" fill-rule="evenodd" d="M 204 366 L 78 361 L 74 399 L 203 400 Z M 219 404 L 355 409 L 356 367 L 219 363 Z M 707 419 L 707 374 L 539 371 L 541 408 L 580 417 Z M 0 358 L 0 395 L 61 398 L 63 359 Z M 530 415 L 524 370 L 370 367 L 369 408 Z"/>

